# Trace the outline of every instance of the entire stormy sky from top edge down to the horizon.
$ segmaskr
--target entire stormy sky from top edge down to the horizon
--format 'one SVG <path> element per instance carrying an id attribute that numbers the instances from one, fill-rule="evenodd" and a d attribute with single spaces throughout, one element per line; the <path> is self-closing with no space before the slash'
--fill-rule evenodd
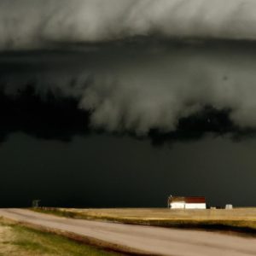
<path id="1" fill-rule="evenodd" d="M 0 207 L 253 206 L 253 0 L 0 0 Z"/>

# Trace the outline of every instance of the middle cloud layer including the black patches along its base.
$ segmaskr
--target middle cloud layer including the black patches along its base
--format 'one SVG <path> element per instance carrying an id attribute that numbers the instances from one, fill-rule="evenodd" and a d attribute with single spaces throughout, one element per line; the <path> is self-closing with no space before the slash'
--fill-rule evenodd
<path id="1" fill-rule="evenodd" d="M 205 132 L 244 135 L 255 128 L 253 56 L 253 43 L 155 38 L 3 53 L 2 133 L 67 140 L 96 129 L 156 144 Z"/>

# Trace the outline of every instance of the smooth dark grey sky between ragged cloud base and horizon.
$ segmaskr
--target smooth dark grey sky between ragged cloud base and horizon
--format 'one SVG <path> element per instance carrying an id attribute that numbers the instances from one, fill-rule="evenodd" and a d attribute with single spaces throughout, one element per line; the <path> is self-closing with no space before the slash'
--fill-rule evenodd
<path id="1" fill-rule="evenodd" d="M 49 142 L 16 133 L 0 147 L 2 206 L 166 207 L 174 195 L 253 206 L 255 139 L 212 136 L 154 148 L 129 137 Z"/>

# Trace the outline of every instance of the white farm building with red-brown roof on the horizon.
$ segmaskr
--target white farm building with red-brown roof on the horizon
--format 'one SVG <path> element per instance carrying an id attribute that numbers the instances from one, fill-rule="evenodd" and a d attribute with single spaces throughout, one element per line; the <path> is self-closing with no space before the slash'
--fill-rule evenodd
<path id="1" fill-rule="evenodd" d="M 206 209 L 206 198 L 203 196 L 172 196 L 168 197 L 168 207 L 172 209 Z"/>

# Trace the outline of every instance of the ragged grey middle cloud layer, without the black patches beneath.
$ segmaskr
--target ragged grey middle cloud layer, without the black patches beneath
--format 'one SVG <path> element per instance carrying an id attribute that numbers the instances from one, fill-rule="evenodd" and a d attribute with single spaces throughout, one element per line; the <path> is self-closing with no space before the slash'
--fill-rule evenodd
<path id="1" fill-rule="evenodd" d="M 89 52 L 9 53 L 0 63 L 1 86 L 10 97 L 30 85 L 41 98 L 49 91 L 72 98 L 96 130 L 173 132 L 208 107 L 241 130 L 255 129 L 254 44 L 152 40 Z"/>

